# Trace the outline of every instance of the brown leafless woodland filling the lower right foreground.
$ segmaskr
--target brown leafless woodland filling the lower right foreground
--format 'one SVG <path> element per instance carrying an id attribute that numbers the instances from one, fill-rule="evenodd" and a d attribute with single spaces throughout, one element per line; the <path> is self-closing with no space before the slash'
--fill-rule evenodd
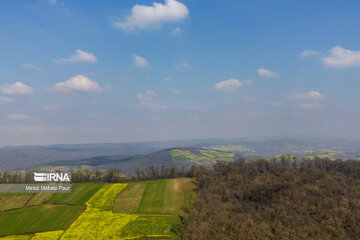
<path id="1" fill-rule="evenodd" d="M 196 176 L 183 240 L 360 239 L 360 162 L 238 160 Z"/>

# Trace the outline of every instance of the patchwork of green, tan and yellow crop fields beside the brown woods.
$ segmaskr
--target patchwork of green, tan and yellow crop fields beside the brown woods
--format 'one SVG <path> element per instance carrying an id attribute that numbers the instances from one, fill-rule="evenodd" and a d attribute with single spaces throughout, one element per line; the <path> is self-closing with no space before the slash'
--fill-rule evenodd
<path id="1" fill-rule="evenodd" d="M 71 194 L 35 194 L 27 207 L 0 213 L 0 224 L 13 226 L 0 225 L 0 236 L 12 235 L 0 239 L 174 239 L 181 206 L 195 200 L 193 187 L 190 179 L 171 179 L 73 184 Z"/>

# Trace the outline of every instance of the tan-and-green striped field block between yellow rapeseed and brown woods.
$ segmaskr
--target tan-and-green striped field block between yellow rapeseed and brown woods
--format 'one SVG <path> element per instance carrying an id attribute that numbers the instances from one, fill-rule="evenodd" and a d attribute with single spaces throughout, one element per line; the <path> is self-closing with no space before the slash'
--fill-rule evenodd
<path id="1" fill-rule="evenodd" d="M 195 200 L 189 178 L 155 180 L 129 184 L 115 199 L 114 212 L 182 214 L 182 206 Z"/>

